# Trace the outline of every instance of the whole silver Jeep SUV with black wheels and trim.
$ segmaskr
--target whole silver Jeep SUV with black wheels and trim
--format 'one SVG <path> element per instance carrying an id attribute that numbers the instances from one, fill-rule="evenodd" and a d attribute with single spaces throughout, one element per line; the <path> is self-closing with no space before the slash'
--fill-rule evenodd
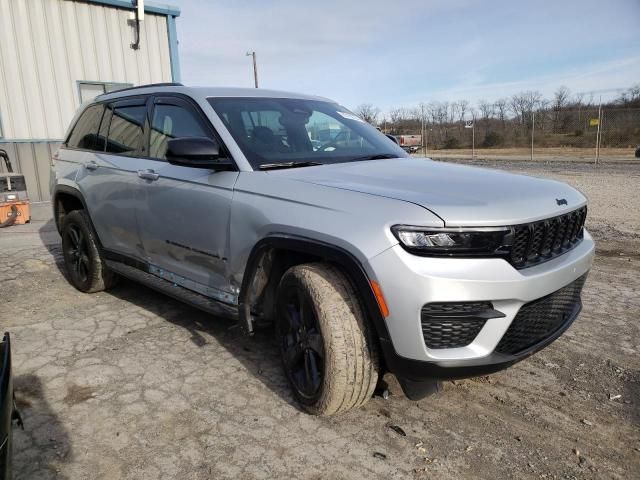
<path id="1" fill-rule="evenodd" d="M 586 199 L 550 180 L 409 157 L 339 104 L 150 85 L 83 106 L 53 159 L 68 277 L 119 275 L 273 324 L 303 407 L 419 399 L 504 369 L 575 320 Z"/>

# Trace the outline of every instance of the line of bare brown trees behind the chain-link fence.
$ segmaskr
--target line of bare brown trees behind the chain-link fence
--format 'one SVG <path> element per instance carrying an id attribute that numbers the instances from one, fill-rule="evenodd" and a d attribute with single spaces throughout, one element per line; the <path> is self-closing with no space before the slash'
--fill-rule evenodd
<path id="1" fill-rule="evenodd" d="M 464 123 L 473 121 L 477 146 L 519 147 L 531 142 L 534 129 L 538 145 L 592 146 L 599 119 L 594 94 L 572 94 L 559 87 L 551 98 L 537 90 L 516 93 L 494 101 L 432 101 L 416 107 L 394 107 L 387 112 L 362 104 L 354 113 L 385 133 L 420 134 L 425 126 L 431 148 L 462 148 L 471 143 Z M 602 104 L 601 127 L 605 146 L 640 143 L 640 83 Z"/>

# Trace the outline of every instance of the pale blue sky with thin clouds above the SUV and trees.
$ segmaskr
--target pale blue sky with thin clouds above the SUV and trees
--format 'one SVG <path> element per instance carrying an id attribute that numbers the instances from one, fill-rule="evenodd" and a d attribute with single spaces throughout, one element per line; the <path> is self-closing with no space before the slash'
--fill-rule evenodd
<path id="1" fill-rule="evenodd" d="M 383 109 L 640 82 L 640 0 L 168 0 L 183 82 Z M 587 97 L 589 94 L 587 93 Z"/>

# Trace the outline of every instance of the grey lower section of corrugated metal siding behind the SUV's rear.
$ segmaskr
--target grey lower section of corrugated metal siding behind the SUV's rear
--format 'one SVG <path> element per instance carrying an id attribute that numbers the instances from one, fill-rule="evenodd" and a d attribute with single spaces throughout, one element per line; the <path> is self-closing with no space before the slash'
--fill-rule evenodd
<path id="1" fill-rule="evenodd" d="M 60 146 L 59 142 L 47 143 L 2 143 L 0 148 L 7 151 L 13 170 L 24 175 L 29 199 L 44 202 L 49 195 L 49 165 L 51 156 Z M 0 174 L 6 173 L 4 162 L 0 162 Z"/>

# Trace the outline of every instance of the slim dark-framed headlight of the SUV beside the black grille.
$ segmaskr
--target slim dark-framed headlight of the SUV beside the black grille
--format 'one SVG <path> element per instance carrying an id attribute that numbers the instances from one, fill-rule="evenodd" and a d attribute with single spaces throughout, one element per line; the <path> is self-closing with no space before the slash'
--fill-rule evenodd
<path id="1" fill-rule="evenodd" d="M 407 250 L 423 255 L 503 255 L 512 243 L 509 227 L 429 228 L 395 225 L 391 231 Z"/>

